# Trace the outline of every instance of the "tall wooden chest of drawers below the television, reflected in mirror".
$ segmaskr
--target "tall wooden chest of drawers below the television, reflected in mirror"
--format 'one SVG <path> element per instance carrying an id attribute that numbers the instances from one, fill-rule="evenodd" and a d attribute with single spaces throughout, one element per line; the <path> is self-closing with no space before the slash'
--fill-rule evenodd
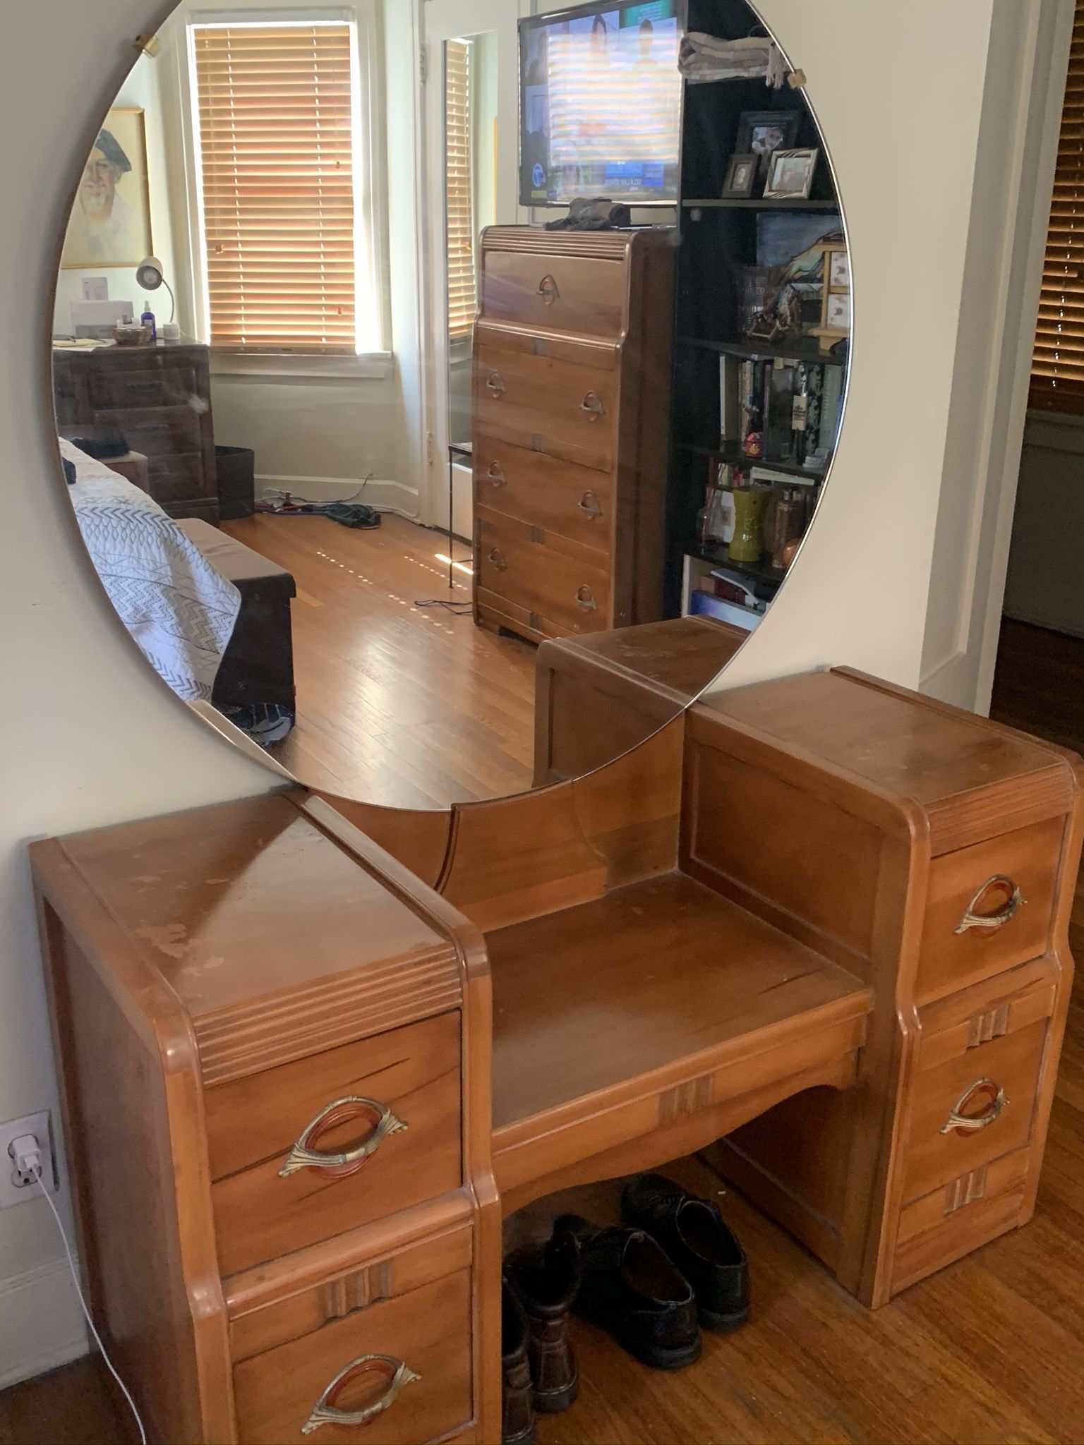
<path id="1" fill-rule="evenodd" d="M 474 613 L 533 642 L 662 617 L 671 228 L 483 236 Z"/>

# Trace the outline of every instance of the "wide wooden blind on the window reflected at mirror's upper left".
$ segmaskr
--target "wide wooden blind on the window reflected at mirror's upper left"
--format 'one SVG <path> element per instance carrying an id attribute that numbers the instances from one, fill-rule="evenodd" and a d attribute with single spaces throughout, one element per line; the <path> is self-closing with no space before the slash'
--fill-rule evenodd
<path id="1" fill-rule="evenodd" d="M 353 353 L 351 27 L 194 40 L 211 345 Z"/>

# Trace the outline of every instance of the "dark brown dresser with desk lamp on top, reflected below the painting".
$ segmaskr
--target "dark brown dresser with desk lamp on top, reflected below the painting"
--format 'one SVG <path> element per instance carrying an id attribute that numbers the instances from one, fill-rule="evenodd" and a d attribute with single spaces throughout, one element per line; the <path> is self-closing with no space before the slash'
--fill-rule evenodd
<path id="1" fill-rule="evenodd" d="M 208 351 L 149 347 L 53 351 L 56 425 L 116 426 L 147 458 L 147 491 L 171 517 L 218 522 Z"/>

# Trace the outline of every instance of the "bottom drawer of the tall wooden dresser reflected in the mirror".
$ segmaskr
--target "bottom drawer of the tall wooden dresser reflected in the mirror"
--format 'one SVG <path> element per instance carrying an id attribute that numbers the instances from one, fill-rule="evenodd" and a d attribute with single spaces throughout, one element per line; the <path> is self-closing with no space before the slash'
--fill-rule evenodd
<path id="1" fill-rule="evenodd" d="M 478 507 L 474 555 L 480 588 L 562 631 L 604 631 L 610 626 L 610 572 L 597 552 Z"/>

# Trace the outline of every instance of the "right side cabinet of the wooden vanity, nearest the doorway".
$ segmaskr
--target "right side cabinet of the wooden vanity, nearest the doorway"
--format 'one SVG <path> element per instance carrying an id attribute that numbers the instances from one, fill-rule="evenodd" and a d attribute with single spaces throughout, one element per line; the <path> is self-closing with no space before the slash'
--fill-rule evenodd
<path id="1" fill-rule="evenodd" d="M 1035 1208 L 1068 1009 L 1083 764 L 838 669 L 687 725 L 684 866 L 859 974 L 850 1095 L 798 1095 L 715 1166 L 866 1303 Z"/>

